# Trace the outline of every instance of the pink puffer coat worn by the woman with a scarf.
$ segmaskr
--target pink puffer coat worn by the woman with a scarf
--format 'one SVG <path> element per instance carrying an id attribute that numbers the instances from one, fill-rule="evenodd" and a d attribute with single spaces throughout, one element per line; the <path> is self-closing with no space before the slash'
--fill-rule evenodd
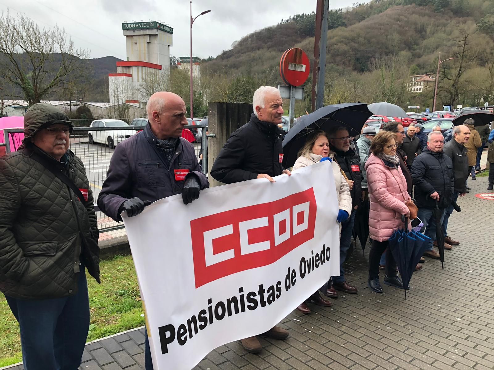
<path id="1" fill-rule="evenodd" d="M 371 154 L 366 163 L 369 184 L 369 233 L 372 240 L 388 240 L 398 228 L 403 228 L 402 215 L 410 213 L 410 195 L 400 166 L 385 163 Z"/>

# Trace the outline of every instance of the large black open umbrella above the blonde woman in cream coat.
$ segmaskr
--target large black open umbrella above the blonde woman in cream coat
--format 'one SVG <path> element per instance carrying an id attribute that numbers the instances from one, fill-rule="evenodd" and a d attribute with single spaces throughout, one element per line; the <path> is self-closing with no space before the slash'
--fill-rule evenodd
<path id="1" fill-rule="evenodd" d="M 359 135 L 362 126 L 372 115 L 364 103 L 334 104 L 319 108 L 297 118 L 297 123 L 283 140 L 283 166 L 293 166 L 298 151 L 305 145 L 307 135 L 314 130 L 329 131 L 334 126 L 344 126 L 351 136 Z"/>

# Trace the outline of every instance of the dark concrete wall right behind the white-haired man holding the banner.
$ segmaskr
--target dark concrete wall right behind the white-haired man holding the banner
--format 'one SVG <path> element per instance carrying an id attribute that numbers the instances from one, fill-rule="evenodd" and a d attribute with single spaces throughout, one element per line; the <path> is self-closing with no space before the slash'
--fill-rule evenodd
<path id="1" fill-rule="evenodd" d="M 232 132 L 250 120 L 253 112 L 252 104 L 247 103 L 209 103 L 208 128 L 209 134 L 215 134 L 215 138 L 208 138 L 207 164 L 208 172 L 220 152 L 223 145 Z M 210 186 L 222 185 L 209 176 Z"/>

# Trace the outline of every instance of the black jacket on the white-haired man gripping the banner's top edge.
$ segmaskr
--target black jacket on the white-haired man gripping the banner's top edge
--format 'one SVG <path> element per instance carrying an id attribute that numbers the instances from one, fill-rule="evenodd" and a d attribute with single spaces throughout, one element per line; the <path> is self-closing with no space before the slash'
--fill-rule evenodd
<path id="1" fill-rule="evenodd" d="M 256 179 L 259 174 L 281 175 L 284 134 L 277 125 L 261 121 L 252 113 L 250 121 L 226 141 L 213 163 L 211 176 L 232 184 Z"/>

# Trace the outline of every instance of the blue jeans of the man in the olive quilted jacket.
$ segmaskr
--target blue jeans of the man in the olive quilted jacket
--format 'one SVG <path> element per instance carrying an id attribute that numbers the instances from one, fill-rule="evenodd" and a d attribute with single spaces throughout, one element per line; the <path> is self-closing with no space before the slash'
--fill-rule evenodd
<path id="1" fill-rule="evenodd" d="M 89 299 L 84 265 L 75 296 L 18 299 L 5 296 L 21 332 L 25 370 L 76 370 L 89 330 Z"/>

